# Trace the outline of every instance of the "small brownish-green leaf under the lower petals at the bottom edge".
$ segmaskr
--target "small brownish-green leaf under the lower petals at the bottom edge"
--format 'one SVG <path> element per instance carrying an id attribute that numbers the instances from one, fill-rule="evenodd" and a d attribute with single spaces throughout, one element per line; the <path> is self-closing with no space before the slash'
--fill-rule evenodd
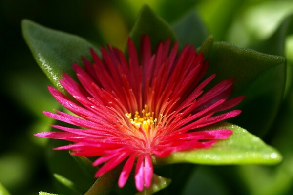
<path id="1" fill-rule="evenodd" d="M 111 171 L 98 177 L 96 182 L 84 195 L 108 195 L 117 184 L 121 170 L 122 165 L 120 164 Z"/>

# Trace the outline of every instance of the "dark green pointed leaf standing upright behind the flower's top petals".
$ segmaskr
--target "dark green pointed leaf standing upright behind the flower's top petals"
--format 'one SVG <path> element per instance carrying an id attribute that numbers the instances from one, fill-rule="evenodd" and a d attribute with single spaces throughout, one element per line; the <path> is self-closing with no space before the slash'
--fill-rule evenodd
<path id="1" fill-rule="evenodd" d="M 139 49 L 143 35 L 149 36 L 153 51 L 162 40 L 165 41 L 169 38 L 172 43 L 177 40 L 175 33 L 167 22 L 155 14 L 146 4 L 142 7 L 129 34 L 137 49 Z"/>

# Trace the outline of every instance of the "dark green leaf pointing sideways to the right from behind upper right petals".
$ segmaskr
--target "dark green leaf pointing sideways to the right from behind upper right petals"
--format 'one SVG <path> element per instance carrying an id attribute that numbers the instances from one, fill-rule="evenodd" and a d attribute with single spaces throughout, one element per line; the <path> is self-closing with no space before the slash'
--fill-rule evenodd
<path id="1" fill-rule="evenodd" d="M 280 56 L 263 54 L 236 47 L 226 42 L 215 42 L 209 56 L 209 74 L 216 73 L 215 83 L 235 78 L 234 91 L 243 91 L 260 73 L 285 63 Z"/>

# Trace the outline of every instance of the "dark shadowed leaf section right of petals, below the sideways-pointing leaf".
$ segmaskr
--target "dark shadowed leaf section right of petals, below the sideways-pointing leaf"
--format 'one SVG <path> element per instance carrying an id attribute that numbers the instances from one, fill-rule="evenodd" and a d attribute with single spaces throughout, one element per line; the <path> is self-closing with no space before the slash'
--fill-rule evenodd
<path id="1" fill-rule="evenodd" d="M 263 137 L 271 128 L 279 110 L 285 86 L 285 72 L 286 66 L 281 64 L 265 71 L 251 82 L 250 86 L 242 91 L 246 98 L 238 107 L 242 110 L 241 115 L 232 118 L 230 122 Z"/>

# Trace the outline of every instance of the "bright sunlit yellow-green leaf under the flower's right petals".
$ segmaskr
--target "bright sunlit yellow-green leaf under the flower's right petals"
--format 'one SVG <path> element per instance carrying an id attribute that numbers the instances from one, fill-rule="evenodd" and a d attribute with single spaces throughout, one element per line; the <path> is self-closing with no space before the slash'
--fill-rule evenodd
<path id="1" fill-rule="evenodd" d="M 166 158 L 155 157 L 156 164 L 196 163 L 209 165 L 230 164 L 276 164 L 282 156 L 260 138 L 247 130 L 230 123 L 219 123 L 208 128 L 231 129 L 233 134 L 226 140 L 218 141 L 208 149 L 175 152 Z"/>

